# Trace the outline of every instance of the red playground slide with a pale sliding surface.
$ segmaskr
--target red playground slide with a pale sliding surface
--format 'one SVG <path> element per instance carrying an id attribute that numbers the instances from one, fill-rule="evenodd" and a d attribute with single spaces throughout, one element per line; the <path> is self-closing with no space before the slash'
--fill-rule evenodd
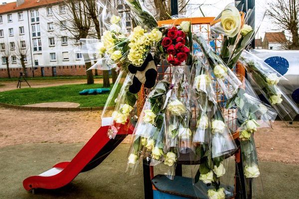
<path id="1" fill-rule="evenodd" d="M 108 138 L 108 129 L 109 126 L 100 127 L 71 162 L 58 163 L 38 176 L 26 178 L 23 181 L 25 190 L 57 189 L 69 184 L 79 173 L 98 166 L 128 134 L 133 133 L 134 127 L 130 126 L 129 130 L 121 128 L 115 139 Z"/>

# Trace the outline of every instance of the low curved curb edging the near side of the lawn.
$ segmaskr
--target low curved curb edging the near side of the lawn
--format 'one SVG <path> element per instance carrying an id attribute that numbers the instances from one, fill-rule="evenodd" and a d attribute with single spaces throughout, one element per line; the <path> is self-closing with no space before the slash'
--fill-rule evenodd
<path id="1" fill-rule="evenodd" d="M 96 106 L 96 107 L 36 107 L 36 106 L 22 106 L 22 105 L 14 105 L 7 103 L 0 103 L 1 107 L 6 108 L 15 108 L 20 110 L 42 110 L 42 111 L 87 111 L 87 110 L 103 110 L 104 106 Z M 109 107 L 110 109 L 114 109 L 113 107 Z"/>

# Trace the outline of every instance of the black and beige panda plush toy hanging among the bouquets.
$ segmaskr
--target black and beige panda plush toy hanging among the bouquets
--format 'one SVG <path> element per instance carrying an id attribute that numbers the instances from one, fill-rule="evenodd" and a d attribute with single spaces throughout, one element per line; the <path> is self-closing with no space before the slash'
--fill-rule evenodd
<path id="1" fill-rule="evenodd" d="M 128 69 L 130 73 L 135 74 L 133 84 L 129 87 L 129 91 L 132 94 L 137 94 L 140 91 L 142 84 L 144 84 L 145 88 L 148 89 L 155 85 L 157 70 L 153 57 L 150 53 L 140 67 L 130 64 Z"/>

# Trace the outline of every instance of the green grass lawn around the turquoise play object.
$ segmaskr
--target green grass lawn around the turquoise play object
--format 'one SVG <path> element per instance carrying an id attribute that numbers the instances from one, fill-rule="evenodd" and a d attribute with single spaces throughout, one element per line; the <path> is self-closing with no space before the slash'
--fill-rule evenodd
<path id="1" fill-rule="evenodd" d="M 79 92 L 84 89 L 102 88 L 102 84 L 77 84 L 63 85 L 46 88 L 24 88 L 12 91 L 0 92 L 0 102 L 25 105 L 42 102 L 70 101 L 80 103 L 80 107 L 104 106 L 109 96 L 107 94 L 80 96 Z M 113 85 L 111 85 L 112 89 Z"/>

